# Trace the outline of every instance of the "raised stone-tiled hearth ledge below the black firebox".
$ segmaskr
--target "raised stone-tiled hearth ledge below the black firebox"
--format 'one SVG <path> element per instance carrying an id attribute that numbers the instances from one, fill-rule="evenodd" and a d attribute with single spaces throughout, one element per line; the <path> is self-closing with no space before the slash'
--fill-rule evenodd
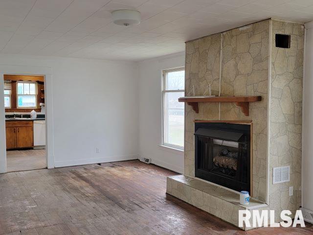
<path id="1" fill-rule="evenodd" d="M 166 192 L 236 227 L 239 227 L 239 210 L 268 210 L 267 204 L 252 198 L 248 206 L 241 205 L 238 193 L 185 175 L 168 177 Z"/>

